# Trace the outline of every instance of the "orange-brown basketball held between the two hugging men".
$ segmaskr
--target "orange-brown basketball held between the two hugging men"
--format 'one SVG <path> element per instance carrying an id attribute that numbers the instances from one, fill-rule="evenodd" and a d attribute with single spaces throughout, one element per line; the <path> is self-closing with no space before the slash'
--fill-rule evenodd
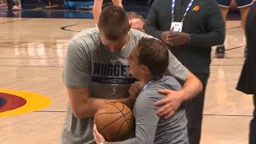
<path id="1" fill-rule="evenodd" d="M 118 142 L 130 137 L 134 118 L 128 106 L 113 102 L 98 109 L 94 115 L 94 124 L 107 142 Z"/>

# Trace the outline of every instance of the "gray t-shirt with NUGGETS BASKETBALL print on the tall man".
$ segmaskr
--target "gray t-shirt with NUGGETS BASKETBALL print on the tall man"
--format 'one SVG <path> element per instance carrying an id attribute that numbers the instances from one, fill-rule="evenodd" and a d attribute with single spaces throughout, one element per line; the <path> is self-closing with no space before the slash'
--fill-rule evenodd
<path id="1" fill-rule="evenodd" d="M 91 98 L 126 98 L 130 85 L 135 81 L 129 74 L 127 58 L 140 38 L 152 38 L 139 30 L 130 30 L 129 34 L 127 46 L 114 53 L 102 45 L 98 29 L 76 34 L 67 49 L 63 72 L 65 85 L 89 87 Z M 184 81 L 188 70 L 173 54 L 170 53 L 169 57 L 170 66 L 166 74 Z M 92 124 L 93 118 L 75 118 L 68 104 L 62 143 L 94 144 Z"/>

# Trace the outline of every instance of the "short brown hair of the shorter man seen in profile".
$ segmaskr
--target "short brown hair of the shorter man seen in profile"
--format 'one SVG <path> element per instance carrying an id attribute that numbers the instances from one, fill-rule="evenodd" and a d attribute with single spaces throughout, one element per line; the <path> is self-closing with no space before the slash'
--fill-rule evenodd
<path id="1" fill-rule="evenodd" d="M 138 41 L 138 64 L 147 66 L 154 77 L 161 76 L 169 66 L 167 46 L 154 38 L 141 38 Z"/>

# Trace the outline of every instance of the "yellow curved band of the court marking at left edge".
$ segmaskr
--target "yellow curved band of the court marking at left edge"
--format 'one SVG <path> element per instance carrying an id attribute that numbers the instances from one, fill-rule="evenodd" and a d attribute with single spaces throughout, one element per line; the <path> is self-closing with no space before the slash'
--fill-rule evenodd
<path id="1" fill-rule="evenodd" d="M 41 94 L 34 94 L 26 91 L 19 90 L 10 90 L 10 89 L 2 89 L 0 88 L 1 93 L 13 94 L 18 97 L 26 99 L 26 104 L 14 110 L 9 110 L 6 112 L 0 113 L 0 117 L 7 117 L 18 114 L 26 114 L 33 112 L 35 110 L 41 110 L 49 106 L 51 103 L 50 98 L 43 96 Z"/>

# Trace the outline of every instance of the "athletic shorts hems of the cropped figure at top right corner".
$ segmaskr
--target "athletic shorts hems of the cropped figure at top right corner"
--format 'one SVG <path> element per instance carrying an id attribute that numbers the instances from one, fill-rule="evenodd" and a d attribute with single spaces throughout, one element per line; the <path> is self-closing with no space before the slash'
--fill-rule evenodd
<path id="1" fill-rule="evenodd" d="M 230 7 L 231 0 L 217 0 L 218 6 L 220 7 Z M 238 9 L 254 4 L 254 0 L 235 0 L 238 5 Z"/>

